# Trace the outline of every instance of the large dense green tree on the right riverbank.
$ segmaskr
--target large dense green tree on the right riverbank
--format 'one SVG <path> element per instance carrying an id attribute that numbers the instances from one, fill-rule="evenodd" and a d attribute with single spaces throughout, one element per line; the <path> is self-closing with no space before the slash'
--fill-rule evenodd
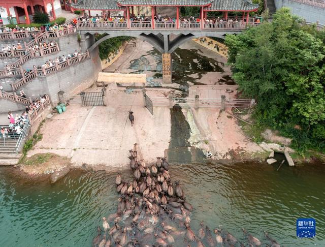
<path id="1" fill-rule="evenodd" d="M 257 123 L 325 150 L 325 34 L 282 8 L 272 22 L 227 36 L 229 63 L 243 94 L 257 100 Z"/>

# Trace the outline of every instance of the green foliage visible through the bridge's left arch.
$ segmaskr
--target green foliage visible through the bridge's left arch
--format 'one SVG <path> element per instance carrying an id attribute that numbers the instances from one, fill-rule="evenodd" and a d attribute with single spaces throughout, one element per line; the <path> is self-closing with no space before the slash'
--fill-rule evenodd
<path id="1" fill-rule="evenodd" d="M 96 39 L 96 41 L 98 41 L 101 38 L 103 38 L 104 36 L 106 36 L 106 34 L 96 35 L 95 39 Z M 103 41 L 99 45 L 100 58 L 102 60 L 106 59 L 111 52 L 115 52 L 116 50 L 118 50 L 124 41 L 129 41 L 131 39 L 133 39 L 133 38 L 129 37 L 129 36 L 119 36 L 119 37 L 114 37 L 114 38 Z"/>

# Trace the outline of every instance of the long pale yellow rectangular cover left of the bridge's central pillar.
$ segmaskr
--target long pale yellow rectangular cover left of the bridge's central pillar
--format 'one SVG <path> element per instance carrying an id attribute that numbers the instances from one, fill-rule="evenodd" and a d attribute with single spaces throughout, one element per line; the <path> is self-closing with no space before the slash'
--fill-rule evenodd
<path id="1" fill-rule="evenodd" d="M 104 83 L 127 83 L 127 84 L 139 84 L 146 83 L 146 74 L 123 74 L 123 73 L 107 73 L 100 72 L 98 74 L 98 82 Z"/>

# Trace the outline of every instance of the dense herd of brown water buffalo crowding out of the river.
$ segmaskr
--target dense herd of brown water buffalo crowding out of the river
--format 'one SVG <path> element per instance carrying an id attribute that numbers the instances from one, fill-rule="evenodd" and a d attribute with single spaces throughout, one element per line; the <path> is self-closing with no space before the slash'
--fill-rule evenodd
<path id="1" fill-rule="evenodd" d="M 98 227 L 94 246 L 262 246 L 244 229 L 245 243 L 227 231 L 211 231 L 203 222 L 194 233 L 190 227 L 193 207 L 178 181 L 171 181 L 166 159 L 158 157 L 148 166 L 138 158 L 137 143 L 129 152 L 135 179 L 127 182 L 117 175 L 115 183 L 121 194 L 117 212 L 103 217 L 103 230 Z M 265 237 L 268 244 L 264 246 L 280 246 L 267 233 Z"/>

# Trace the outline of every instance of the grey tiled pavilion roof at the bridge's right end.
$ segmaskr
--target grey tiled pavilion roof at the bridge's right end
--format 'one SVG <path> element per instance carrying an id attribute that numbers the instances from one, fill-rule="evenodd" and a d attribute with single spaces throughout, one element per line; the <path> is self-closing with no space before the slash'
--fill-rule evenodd
<path id="1" fill-rule="evenodd" d="M 258 9 L 258 4 L 252 4 L 249 0 L 213 0 L 212 5 L 205 7 L 209 11 L 252 11 Z"/>

